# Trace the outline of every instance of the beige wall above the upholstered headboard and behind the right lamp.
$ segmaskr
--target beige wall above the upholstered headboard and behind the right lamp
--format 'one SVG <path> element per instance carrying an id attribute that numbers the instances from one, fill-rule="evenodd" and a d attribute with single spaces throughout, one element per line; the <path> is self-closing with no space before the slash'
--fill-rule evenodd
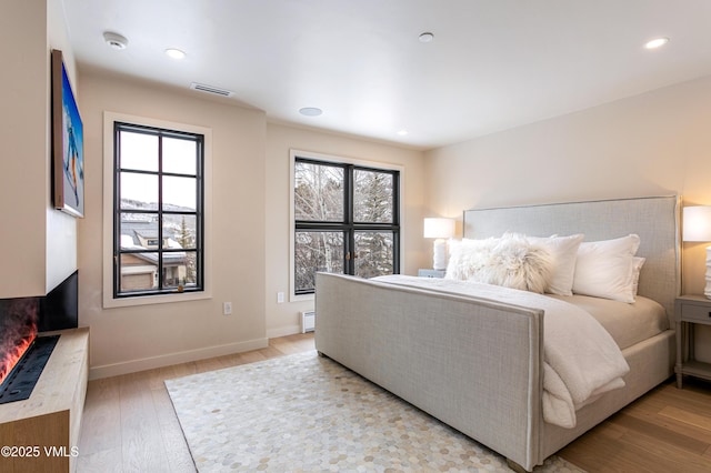
<path id="1" fill-rule="evenodd" d="M 711 204 L 711 77 L 427 153 L 431 211 L 679 193 Z M 703 290 L 685 244 L 684 290 Z"/>

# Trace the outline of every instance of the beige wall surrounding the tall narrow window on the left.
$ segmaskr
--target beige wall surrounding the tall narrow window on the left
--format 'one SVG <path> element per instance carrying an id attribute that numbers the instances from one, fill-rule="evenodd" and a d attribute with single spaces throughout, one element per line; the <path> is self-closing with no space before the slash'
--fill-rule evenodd
<path id="1" fill-rule="evenodd" d="M 79 305 L 80 324 L 91 326 L 92 376 L 264 346 L 264 113 L 80 72 L 87 217 L 79 223 Z M 102 309 L 104 111 L 212 130 L 212 299 Z M 232 315 L 222 314 L 226 301 Z"/>

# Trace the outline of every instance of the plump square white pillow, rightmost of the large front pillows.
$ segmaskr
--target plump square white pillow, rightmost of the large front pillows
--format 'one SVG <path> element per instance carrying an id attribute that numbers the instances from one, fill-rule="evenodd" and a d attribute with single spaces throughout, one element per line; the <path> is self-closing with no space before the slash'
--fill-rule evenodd
<path id="1" fill-rule="evenodd" d="M 578 249 L 573 292 L 634 302 L 633 258 L 639 246 L 640 238 L 637 234 L 582 242 Z"/>

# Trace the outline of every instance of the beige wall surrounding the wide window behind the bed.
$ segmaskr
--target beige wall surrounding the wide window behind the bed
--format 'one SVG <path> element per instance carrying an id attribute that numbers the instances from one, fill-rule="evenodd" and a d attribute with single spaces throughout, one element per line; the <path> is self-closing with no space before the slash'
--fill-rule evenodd
<path id="1" fill-rule="evenodd" d="M 300 311 L 313 309 L 313 301 L 289 301 L 290 150 L 401 165 L 402 268 L 417 274 L 427 263 L 422 241 L 423 153 L 378 142 L 313 130 L 269 123 L 267 127 L 267 335 L 280 336 L 300 330 Z M 283 292 L 284 303 L 277 303 Z"/>

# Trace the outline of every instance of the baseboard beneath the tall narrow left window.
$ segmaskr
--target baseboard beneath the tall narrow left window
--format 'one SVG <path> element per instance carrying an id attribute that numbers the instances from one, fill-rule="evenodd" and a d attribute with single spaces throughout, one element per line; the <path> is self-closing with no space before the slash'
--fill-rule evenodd
<path id="1" fill-rule="evenodd" d="M 268 345 L 269 339 L 257 339 L 248 340 L 247 342 L 228 343 L 226 345 L 207 346 L 204 349 L 187 350 L 184 352 L 169 353 L 140 360 L 130 360 L 121 363 L 91 366 L 89 369 L 89 379 L 99 380 L 101 378 L 118 376 L 121 374 L 152 370 L 154 368 L 170 366 L 171 364 L 180 364 L 190 361 L 247 352 L 250 350 L 259 350 L 267 348 Z"/>

